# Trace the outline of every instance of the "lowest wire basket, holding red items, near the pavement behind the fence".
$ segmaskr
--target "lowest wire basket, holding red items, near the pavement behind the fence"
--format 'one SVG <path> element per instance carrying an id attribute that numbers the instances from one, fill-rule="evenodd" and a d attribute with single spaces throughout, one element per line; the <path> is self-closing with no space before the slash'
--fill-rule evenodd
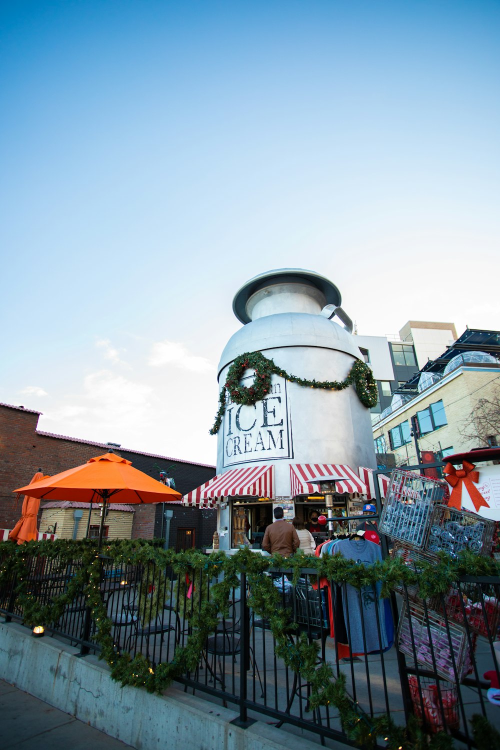
<path id="1" fill-rule="evenodd" d="M 408 678 L 413 710 L 432 733 L 460 728 L 457 685 L 430 677 Z M 422 712 L 422 708 L 424 711 Z"/>

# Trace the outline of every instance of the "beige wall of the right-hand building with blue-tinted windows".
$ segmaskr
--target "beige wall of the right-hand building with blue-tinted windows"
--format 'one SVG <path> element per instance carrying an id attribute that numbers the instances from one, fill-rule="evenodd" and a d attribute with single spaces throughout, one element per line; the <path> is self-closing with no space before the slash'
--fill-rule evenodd
<path id="1" fill-rule="evenodd" d="M 493 389 L 499 383 L 499 370 L 490 368 L 460 368 L 449 374 L 444 380 L 436 383 L 418 398 L 405 404 L 389 418 L 382 420 L 373 428 L 373 437 L 383 435 L 388 453 L 394 453 L 398 465 L 401 463 L 418 463 L 415 441 L 398 449 L 391 449 L 389 431 L 409 420 L 417 412 L 426 409 L 436 401 L 442 401 L 448 425 L 428 433 L 418 439 L 421 451 L 439 451 L 453 447 L 454 452 L 467 451 L 480 447 L 477 441 L 465 440 L 459 429 L 468 421 L 470 413 L 481 398 L 493 395 Z"/>

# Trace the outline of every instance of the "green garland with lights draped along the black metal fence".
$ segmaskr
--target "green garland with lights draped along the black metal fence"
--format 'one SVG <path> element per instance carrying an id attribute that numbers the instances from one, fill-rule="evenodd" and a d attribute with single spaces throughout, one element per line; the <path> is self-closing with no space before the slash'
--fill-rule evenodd
<path id="1" fill-rule="evenodd" d="M 112 622 L 107 616 L 106 606 L 100 593 L 103 556 L 97 555 L 95 547 L 88 543 L 66 541 L 30 542 L 14 547 L 11 542 L 0 543 L 0 590 L 8 589 L 13 576 L 16 576 L 16 607 L 28 625 L 46 625 L 57 622 L 64 607 L 83 591 L 96 625 L 95 638 L 100 646 L 100 658 L 111 669 L 113 679 L 121 685 L 145 687 L 151 692 L 163 692 L 172 680 L 187 672 L 193 672 L 206 639 L 217 627 L 220 613 L 228 616 L 232 591 L 240 585 L 239 574 L 244 571 L 250 585 L 249 607 L 256 616 L 269 622 L 276 642 L 276 654 L 285 664 L 310 684 L 310 709 L 331 704 L 340 715 L 340 721 L 349 742 L 363 748 L 376 748 L 378 738 L 385 739 L 390 750 L 403 747 L 405 750 L 449 750 L 453 743 L 446 733 L 438 733 L 429 738 L 415 717 L 407 727 L 394 724 L 389 715 L 377 718 L 365 714 L 346 692 L 345 677 L 333 673 L 329 664 L 318 663 L 319 646 L 309 643 L 306 634 L 296 634 L 295 625 L 286 610 L 278 604 L 279 592 L 271 577 L 264 575 L 270 568 L 284 568 L 292 572 L 292 583 L 296 583 L 301 568 L 313 568 L 319 576 L 337 583 L 349 583 L 361 589 L 382 583 L 382 595 L 388 596 L 400 583 L 418 583 L 423 597 L 446 592 L 452 583 L 463 575 L 498 576 L 500 565 L 496 560 L 464 553 L 458 559 L 451 559 L 441 553 L 439 561 L 433 564 L 423 562 L 419 573 L 409 568 L 400 558 L 385 559 L 368 567 L 360 566 L 340 555 L 316 559 L 298 554 L 284 559 L 279 555 L 265 558 L 239 550 L 234 556 L 223 552 L 205 555 L 199 550 L 175 553 L 153 547 L 147 542 L 131 540 L 115 541 L 105 547 L 103 553 L 115 565 L 148 565 L 154 563 L 157 571 L 171 567 L 178 577 L 178 601 L 184 601 L 187 580 L 195 582 L 195 597 L 190 599 L 190 632 L 184 646 L 175 649 L 172 661 L 151 664 L 142 654 L 134 658 L 122 652 L 112 639 Z M 48 604 L 37 601 L 36 592 L 28 586 L 31 564 L 34 558 L 43 555 L 46 559 L 57 559 L 61 565 L 79 559 L 80 567 L 67 584 L 67 590 Z M 217 577 L 217 583 L 208 582 Z M 168 589 L 163 573 L 151 577 L 151 584 L 157 586 L 157 606 L 162 607 L 160 591 Z M 200 589 L 201 584 L 201 589 Z M 156 599 L 155 599 L 156 601 Z M 295 633 L 294 643 L 289 639 Z M 482 718 L 473 722 L 474 733 L 491 734 L 490 724 Z M 495 736 L 496 739 L 496 736 Z"/>

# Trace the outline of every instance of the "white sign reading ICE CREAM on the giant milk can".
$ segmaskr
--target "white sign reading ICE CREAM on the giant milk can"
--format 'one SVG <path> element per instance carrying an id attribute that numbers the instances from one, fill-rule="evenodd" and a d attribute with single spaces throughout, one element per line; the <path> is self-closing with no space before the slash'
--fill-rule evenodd
<path id="1" fill-rule="evenodd" d="M 249 387 L 253 374 L 241 385 Z M 271 392 L 251 407 L 229 398 L 223 419 L 223 466 L 293 458 L 286 380 L 273 375 Z"/>

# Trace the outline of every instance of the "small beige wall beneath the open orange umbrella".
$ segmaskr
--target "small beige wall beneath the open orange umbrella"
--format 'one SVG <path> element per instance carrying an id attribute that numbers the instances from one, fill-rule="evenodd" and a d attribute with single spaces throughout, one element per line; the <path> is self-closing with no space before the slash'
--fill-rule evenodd
<path id="1" fill-rule="evenodd" d="M 75 508 L 46 508 L 42 511 L 40 532 L 46 533 L 48 526 L 57 523 L 55 533 L 58 538 L 72 539 L 74 528 L 73 511 Z M 85 538 L 88 524 L 88 508 L 82 508 L 82 518 L 78 526 L 77 539 Z M 130 539 L 132 536 L 133 513 L 130 511 L 109 511 L 105 526 L 109 526 L 108 539 Z M 100 511 L 91 511 L 91 526 L 99 526 Z"/>

